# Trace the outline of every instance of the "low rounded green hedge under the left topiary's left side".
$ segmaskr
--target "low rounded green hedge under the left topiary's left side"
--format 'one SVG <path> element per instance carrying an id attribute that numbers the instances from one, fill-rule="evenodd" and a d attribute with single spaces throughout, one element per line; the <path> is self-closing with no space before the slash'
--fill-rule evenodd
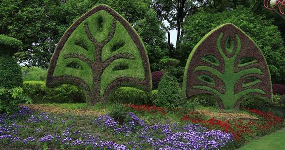
<path id="1" fill-rule="evenodd" d="M 44 81 L 24 81 L 24 93 L 35 103 L 84 103 L 84 92 L 77 86 L 64 84 L 47 88 Z"/>

